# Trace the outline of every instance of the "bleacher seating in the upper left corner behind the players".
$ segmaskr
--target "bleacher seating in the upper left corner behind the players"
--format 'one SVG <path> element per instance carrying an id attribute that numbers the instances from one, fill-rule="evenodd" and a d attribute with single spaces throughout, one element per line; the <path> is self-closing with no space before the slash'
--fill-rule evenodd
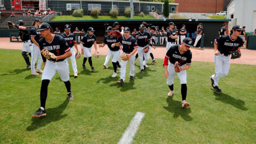
<path id="1" fill-rule="evenodd" d="M 4 20 L 0 21 L 0 29 L 9 29 L 8 27 L 8 23 L 7 21 L 11 21 L 13 23 L 15 23 L 17 20 L 23 20 L 24 21 L 24 26 L 26 26 L 27 28 L 31 28 L 32 23 L 35 19 L 39 19 L 41 21 L 51 21 L 54 18 L 53 14 L 50 15 L 42 15 L 41 17 L 35 17 L 34 15 L 15 15 L 15 17 L 8 17 Z"/>

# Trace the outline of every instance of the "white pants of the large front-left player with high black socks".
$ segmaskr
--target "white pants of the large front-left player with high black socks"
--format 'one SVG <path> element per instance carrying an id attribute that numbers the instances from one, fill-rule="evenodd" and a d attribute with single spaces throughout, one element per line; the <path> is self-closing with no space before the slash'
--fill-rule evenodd
<path id="1" fill-rule="evenodd" d="M 56 72 L 58 72 L 60 79 L 63 82 L 69 81 L 69 66 L 67 59 L 59 62 L 51 62 L 49 60 L 46 60 L 41 81 L 43 81 L 44 79 L 49 79 L 51 81 L 52 77 L 56 74 Z"/>

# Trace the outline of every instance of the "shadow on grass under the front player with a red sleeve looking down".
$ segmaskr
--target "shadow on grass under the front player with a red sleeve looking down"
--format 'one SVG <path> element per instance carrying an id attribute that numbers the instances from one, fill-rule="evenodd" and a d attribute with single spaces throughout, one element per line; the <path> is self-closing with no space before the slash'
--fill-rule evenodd
<path id="1" fill-rule="evenodd" d="M 173 118 L 178 118 L 180 116 L 185 121 L 193 120 L 193 118 L 189 116 L 189 113 L 191 113 L 191 109 L 189 107 L 182 109 L 181 102 L 174 101 L 171 97 L 168 97 L 166 99 L 166 102 L 168 103 L 168 107 L 164 107 L 164 108 L 168 110 L 170 113 L 173 113 Z"/>

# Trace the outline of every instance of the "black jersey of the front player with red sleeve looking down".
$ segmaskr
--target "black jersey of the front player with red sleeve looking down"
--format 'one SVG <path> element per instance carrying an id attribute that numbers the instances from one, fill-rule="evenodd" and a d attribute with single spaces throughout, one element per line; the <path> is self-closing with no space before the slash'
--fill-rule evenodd
<path id="1" fill-rule="evenodd" d="M 170 47 L 165 57 L 168 58 L 173 65 L 176 61 L 178 61 L 181 66 L 184 64 L 191 65 L 192 53 L 190 50 L 181 53 L 180 45 L 177 44 Z"/>

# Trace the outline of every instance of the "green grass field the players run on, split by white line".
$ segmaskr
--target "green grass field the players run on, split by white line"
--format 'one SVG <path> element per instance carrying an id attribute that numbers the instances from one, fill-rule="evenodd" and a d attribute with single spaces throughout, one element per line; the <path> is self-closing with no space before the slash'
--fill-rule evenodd
<path id="1" fill-rule="evenodd" d="M 73 101 L 56 74 L 49 84 L 46 117 L 32 118 L 39 108 L 41 74 L 30 75 L 20 50 L 0 49 L 0 143 L 117 143 L 137 111 L 145 113 L 133 143 L 255 143 L 256 66 L 230 65 L 214 93 L 209 76 L 214 63 L 193 62 L 187 70 L 187 101 L 181 108 L 178 76 L 173 98 L 167 98 L 163 60 L 124 86 L 103 69 L 105 56 L 93 58 L 93 73 L 77 60 L 78 78 L 70 65 Z M 151 62 L 151 59 L 150 61 Z M 86 63 L 89 67 L 89 63 Z"/>

